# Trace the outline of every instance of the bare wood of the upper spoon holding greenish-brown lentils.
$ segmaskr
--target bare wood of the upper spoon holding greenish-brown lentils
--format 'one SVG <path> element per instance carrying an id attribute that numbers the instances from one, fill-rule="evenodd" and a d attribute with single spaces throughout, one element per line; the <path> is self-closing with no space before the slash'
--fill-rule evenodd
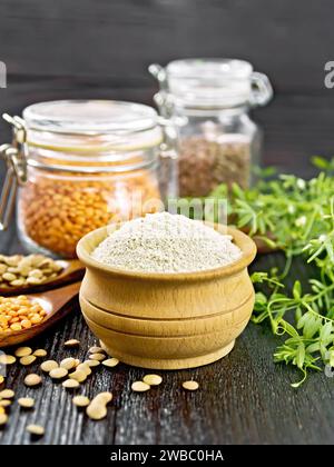
<path id="1" fill-rule="evenodd" d="M 40 292 L 47 289 L 49 290 L 53 287 L 59 287 L 68 282 L 73 282 L 75 280 L 77 281 L 82 279 L 85 266 L 78 259 L 72 259 L 68 261 L 59 260 L 57 262 L 62 267 L 62 271 L 56 278 L 46 280 L 40 285 L 27 285 L 21 287 L 0 287 L 0 295 L 8 297 L 13 295 Z"/>

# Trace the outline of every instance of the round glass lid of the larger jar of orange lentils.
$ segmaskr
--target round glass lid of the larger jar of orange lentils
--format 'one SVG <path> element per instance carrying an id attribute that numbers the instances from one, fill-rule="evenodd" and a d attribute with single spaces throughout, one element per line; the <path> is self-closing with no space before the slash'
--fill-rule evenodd
<path id="1" fill-rule="evenodd" d="M 157 146 L 155 109 L 114 100 L 35 103 L 22 113 L 29 146 L 65 152 L 131 151 Z"/>

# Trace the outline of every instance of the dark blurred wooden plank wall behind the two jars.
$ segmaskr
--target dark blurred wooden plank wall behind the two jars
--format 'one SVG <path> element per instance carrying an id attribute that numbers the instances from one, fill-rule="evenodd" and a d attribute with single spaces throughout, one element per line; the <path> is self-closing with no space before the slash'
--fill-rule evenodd
<path id="1" fill-rule="evenodd" d="M 266 163 L 310 173 L 333 153 L 331 0 L 0 0 L 0 112 L 63 98 L 151 103 L 147 66 L 184 57 L 237 57 L 266 72 L 276 98 L 255 112 Z M 0 141 L 8 139 L 0 123 Z"/>

